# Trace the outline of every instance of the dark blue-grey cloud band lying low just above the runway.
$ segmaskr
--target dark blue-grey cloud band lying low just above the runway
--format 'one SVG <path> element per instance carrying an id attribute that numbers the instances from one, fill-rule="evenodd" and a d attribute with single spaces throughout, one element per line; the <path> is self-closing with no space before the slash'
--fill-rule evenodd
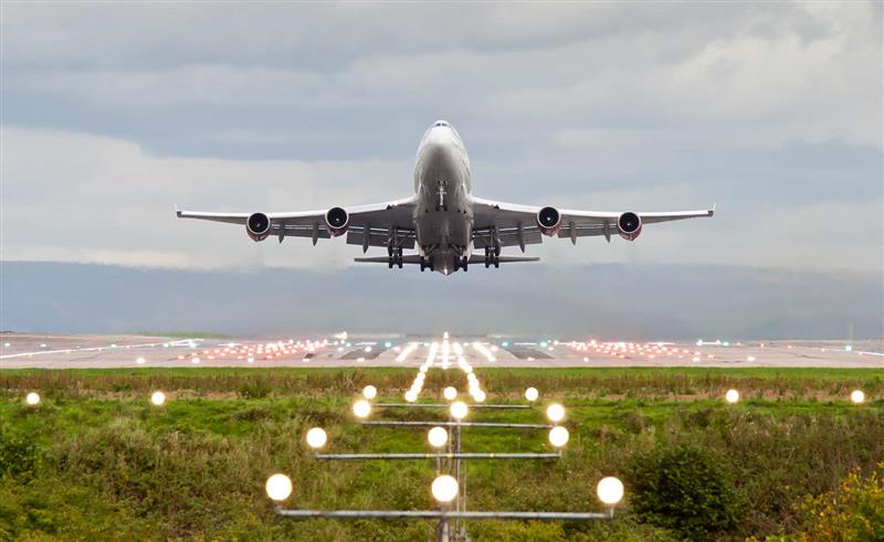
<path id="1" fill-rule="evenodd" d="M 366 268 L 176 270 L 4 262 L 0 329 L 480 332 L 602 340 L 880 338 L 880 276 L 730 266 L 511 265 L 428 287 Z M 367 287 L 370 284 L 370 287 Z M 526 288 L 541 284 L 541 288 Z M 494 299 L 494 302 L 488 302 Z M 428 307 L 432 307 L 428 310 Z M 548 308 L 555 307 L 555 316 Z M 641 309 L 636 309 L 640 307 Z M 419 315 L 403 318 L 402 315 Z"/>

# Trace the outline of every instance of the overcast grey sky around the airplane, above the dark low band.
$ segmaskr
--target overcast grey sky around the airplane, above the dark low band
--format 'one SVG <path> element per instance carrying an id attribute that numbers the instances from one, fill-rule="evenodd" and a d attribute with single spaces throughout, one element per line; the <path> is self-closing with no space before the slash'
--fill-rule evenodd
<path id="1" fill-rule="evenodd" d="M 1 9 L 2 262 L 339 276 L 360 253 L 340 238 L 253 243 L 178 221 L 173 205 L 407 196 L 418 140 L 445 118 L 483 198 L 717 204 L 712 221 L 649 226 L 634 243 L 530 247 L 552 273 L 736 267 L 829 284 L 843 272 L 873 286 L 884 273 L 877 2 Z M 356 291 L 375 280 L 344 276 Z"/>

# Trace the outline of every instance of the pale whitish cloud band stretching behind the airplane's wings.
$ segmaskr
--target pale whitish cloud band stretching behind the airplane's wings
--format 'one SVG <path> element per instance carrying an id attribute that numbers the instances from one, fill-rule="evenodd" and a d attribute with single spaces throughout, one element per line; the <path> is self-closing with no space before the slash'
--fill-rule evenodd
<path id="1" fill-rule="evenodd" d="M 236 226 L 180 221 L 172 204 L 210 211 L 325 210 L 411 193 L 410 159 L 297 161 L 158 157 L 130 141 L 4 128 L 3 257 L 137 266 L 341 267 L 359 249 L 330 240 L 255 244 Z M 46 157 L 52 157 L 48 160 Z M 649 226 L 635 243 L 547 240 L 530 252 L 550 264 L 715 263 L 770 267 L 880 269 L 878 200 L 764 201 L 764 183 L 729 192 L 712 221 Z M 798 189 L 798 188 L 796 188 Z M 690 182 L 608 185 L 535 193 L 585 209 L 702 209 Z M 482 191 L 488 194 L 487 191 Z M 505 200 L 507 194 L 499 195 Z M 522 201 L 518 194 L 509 194 Z M 722 195 L 722 194 L 719 194 Z M 625 202 L 625 203 L 624 203 Z M 627 206 L 629 205 L 629 206 Z"/>

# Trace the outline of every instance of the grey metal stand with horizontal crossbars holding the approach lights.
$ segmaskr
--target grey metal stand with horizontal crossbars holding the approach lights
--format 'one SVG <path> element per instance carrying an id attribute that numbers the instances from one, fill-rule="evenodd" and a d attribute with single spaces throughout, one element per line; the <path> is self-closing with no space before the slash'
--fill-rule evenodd
<path id="1" fill-rule="evenodd" d="M 387 408 L 448 408 L 443 403 L 378 403 L 376 407 Z M 470 408 L 532 408 L 529 405 L 471 405 Z M 451 472 L 457 480 L 457 496 L 453 502 L 441 504 L 439 510 L 286 510 L 276 508 L 276 513 L 283 518 L 337 518 L 337 519 L 424 519 L 438 520 L 435 528 L 436 542 L 467 542 L 466 520 L 538 520 L 538 521 L 596 521 L 610 520 L 614 517 L 613 507 L 603 512 L 502 512 L 502 511 L 467 511 L 466 510 L 466 476 L 461 469 L 461 460 L 465 459 L 559 459 L 561 451 L 556 453 L 464 453 L 461 450 L 462 427 L 495 427 L 505 429 L 550 429 L 549 424 L 514 424 L 514 423 L 482 423 L 482 422 L 399 422 L 399 421 L 365 421 L 365 426 L 391 427 L 449 427 L 448 450 L 432 454 L 397 453 L 397 454 L 316 454 L 319 460 L 415 460 L 434 459 L 436 475 Z M 453 509 L 452 509 L 453 508 Z M 454 525 L 452 529 L 451 522 Z"/>

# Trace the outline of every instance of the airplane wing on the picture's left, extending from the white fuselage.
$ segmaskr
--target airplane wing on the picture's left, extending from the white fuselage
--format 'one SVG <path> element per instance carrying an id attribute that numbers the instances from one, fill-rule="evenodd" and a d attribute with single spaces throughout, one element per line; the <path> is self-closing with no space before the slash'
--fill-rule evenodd
<path id="1" fill-rule="evenodd" d="M 414 211 L 415 198 L 406 198 L 386 203 L 373 203 L 344 208 L 347 211 L 347 243 L 369 246 L 387 246 L 393 230 L 398 237 L 397 244 L 403 248 L 414 247 Z M 327 211 L 294 211 L 281 213 L 264 213 L 270 220 L 269 236 L 278 237 L 280 243 L 285 237 L 311 237 L 316 244 L 317 240 L 329 238 L 325 215 Z M 181 211 L 176 208 L 179 219 L 197 219 L 213 222 L 227 222 L 245 227 L 252 213 L 213 213 L 202 211 Z"/>

